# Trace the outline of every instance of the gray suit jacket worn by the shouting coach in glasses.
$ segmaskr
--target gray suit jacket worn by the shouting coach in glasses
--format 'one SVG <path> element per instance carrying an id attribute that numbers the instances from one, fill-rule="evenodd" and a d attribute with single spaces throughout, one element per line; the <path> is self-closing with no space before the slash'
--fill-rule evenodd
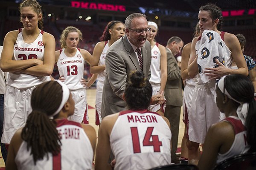
<path id="1" fill-rule="evenodd" d="M 143 73 L 150 78 L 151 45 L 148 41 L 141 48 Z M 138 57 L 126 35 L 114 42 L 108 49 L 106 59 L 106 77 L 102 92 L 102 118 L 109 114 L 125 110 L 126 102 L 122 99 L 128 76 L 131 71 L 141 71 Z"/>

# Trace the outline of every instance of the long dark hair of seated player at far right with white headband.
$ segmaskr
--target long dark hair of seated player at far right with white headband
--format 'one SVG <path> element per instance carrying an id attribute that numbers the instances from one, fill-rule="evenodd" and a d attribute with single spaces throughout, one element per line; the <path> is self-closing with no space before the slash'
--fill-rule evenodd
<path id="1" fill-rule="evenodd" d="M 225 77 L 224 86 L 227 92 L 239 102 L 249 103 L 249 110 L 245 120 L 247 127 L 247 142 L 251 151 L 256 151 L 256 101 L 254 100 L 254 87 L 250 79 L 241 74 Z"/>

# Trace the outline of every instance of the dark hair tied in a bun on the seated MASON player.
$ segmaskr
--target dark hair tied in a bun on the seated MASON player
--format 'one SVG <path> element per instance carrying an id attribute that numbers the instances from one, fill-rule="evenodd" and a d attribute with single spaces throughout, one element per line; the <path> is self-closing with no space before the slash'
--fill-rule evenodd
<path id="1" fill-rule="evenodd" d="M 125 88 L 125 100 L 128 109 L 141 110 L 148 108 L 151 96 L 152 86 L 143 72 L 132 72 Z"/>

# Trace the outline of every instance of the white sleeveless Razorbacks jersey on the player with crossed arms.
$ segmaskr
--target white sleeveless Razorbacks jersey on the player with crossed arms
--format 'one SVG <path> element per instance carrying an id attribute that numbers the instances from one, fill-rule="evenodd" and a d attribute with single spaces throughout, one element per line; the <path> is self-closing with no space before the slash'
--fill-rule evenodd
<path id="1" fill-rule="evenodd" d="M 19 34 L 13 48 L 12 60 L 26 60 L 26 59 L 40 59 L 44 60 L 44 31 L 40 30 L 38 37 L 32 43 L 23 41 L 22 28 L 19 29 Z M 33 76 L 19 72 L 10 73 L 7 80 L 7 85 L 14 88 L 29 88 L 41 84 L 42 82 L 49 81 L 49 76 Z"/>

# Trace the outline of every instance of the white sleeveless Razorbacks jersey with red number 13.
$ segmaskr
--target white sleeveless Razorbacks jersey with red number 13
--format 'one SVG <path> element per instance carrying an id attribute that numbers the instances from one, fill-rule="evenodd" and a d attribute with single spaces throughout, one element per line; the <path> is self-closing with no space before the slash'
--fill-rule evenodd
<path id="1" fill-rule="evenodd" d="M 80 80 L 84 77 L 84 57 L 80 49 L 76 48 L 76 54 L 73 57 L 67 57 L 65 49 L 60 50 L 60 56 L 57 62 L 60 76 L 64 76 L 65 84 L 70 90 L 84 88 Z"/>

